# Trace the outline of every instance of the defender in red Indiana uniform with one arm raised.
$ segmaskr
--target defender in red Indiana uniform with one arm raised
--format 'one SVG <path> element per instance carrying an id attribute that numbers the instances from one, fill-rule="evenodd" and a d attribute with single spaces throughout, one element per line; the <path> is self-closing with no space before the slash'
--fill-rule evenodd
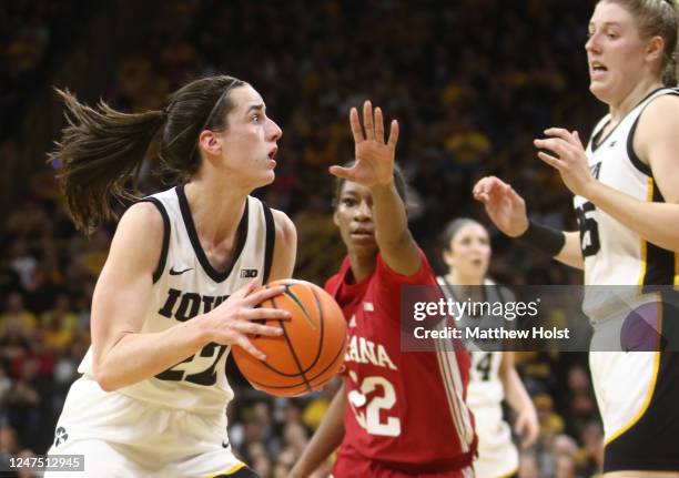
<path id="1" fill-rule="evenodd" d="M 352 109 L 351 128 L 356 161 L 331 167 L 347 257 L 326 283 L 348 322 L 344 385 L 292 476 L 308 476 L 338 446 L 335 478 L 472 476 L 466 352 L 401 352 L 401 287 L 436 279 L 407 226 L 398 123 L 385 143 L 382 111 L 365 102 L 363 126 Z"/>

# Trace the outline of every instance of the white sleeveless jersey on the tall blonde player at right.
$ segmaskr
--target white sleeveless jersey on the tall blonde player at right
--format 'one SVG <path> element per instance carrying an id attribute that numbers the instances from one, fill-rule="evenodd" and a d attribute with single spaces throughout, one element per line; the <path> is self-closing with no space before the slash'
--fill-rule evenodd
<path id="1" fill-rule="evenodd" d="M 604 139 L 610 122 L 606 115 L 595 128 L 587 145 L 592 175 L 601 183 L 639 201 L 663 202 L 650 167 L 634 151 L 634 138 L 645 108 L 665 94 L 679 91 L 662 88 L 650 93 Z M 574 197 L 580 228 L 580 246 L 585 260 L 585 285 L 666 285 L 679 281 L 679 263 L 671 251 L 641 240 L 639 234 L 597 209 L 585 197 Z M 597 323 L 624 306 L 637 289 L 587 288 L 582 308 Z M 620 299 L 622 298 L 622 299 Z"/>

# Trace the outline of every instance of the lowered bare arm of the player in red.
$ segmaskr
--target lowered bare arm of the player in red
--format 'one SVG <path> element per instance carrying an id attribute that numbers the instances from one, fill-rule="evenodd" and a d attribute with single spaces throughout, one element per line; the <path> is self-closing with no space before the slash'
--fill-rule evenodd
<path id="1" fill-rule="evenodd" d="M 321 421 L 308 446 L 291 470 L 291 477 L 304 478 L 310 476 L 340 447 L 344 438 L 345 406 L 346 395 L 343 384 L 335 394 L 325 417 L 323 417 L 323 421 Z"/>

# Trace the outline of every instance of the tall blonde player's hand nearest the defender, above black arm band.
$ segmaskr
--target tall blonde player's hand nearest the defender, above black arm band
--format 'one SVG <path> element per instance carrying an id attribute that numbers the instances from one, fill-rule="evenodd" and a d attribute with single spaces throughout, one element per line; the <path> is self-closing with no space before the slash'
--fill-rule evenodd
<path id="1" fill-rule="evenodd" d="M 490 221 L 509 237 L 518 237 L 528 228 L 526 202 L 514 189 L 495 176 L 479 180 L 472 190 L 474 199 L 486 206 Z"/>

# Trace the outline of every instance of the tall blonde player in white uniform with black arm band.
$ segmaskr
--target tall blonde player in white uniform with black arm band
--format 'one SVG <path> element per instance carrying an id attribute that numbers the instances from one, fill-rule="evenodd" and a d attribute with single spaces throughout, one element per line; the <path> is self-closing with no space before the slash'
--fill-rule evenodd
<path id="1" fill-rule="evenodd" d="M 609 113 L 587 149 L 577 132 L 559 128 L 535 141 L 539 159 L 575 194 L 579 234 L 529 222 L 523 199 L 496 177 L 474 187 L 504 233 L 584 268 L 586 285 L 679 281 L 679 98 L 667 88 L 677 84 L 677 19 L 668 0 L 601 0 L 595 8 L 585 47 L 589 89 Z M 597 340 L 616 315 L 588 301 L 584 308 Z M 677 354 L 591 352 L 590 369 L 607 476 L 679 476 Z"/>

